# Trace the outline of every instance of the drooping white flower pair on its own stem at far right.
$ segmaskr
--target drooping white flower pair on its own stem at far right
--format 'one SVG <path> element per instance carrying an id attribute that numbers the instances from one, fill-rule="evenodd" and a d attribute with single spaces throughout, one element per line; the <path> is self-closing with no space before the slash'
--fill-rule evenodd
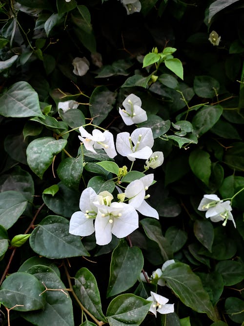
<path id="1" fill-rule="evenodd" d="M 205 217 L 210 218 L 212 222 L 222 221 L 222 225 L 225 226 L 227 220 L 230 219 L 233 222 L 234 227 L 236 227 L 236 223 L 231 213 L 232 207 L 230 206 L 229 200 L 224 201 L 214 194 L 204 195 L 198 206 L 198 210 L 205 211 Z"/>

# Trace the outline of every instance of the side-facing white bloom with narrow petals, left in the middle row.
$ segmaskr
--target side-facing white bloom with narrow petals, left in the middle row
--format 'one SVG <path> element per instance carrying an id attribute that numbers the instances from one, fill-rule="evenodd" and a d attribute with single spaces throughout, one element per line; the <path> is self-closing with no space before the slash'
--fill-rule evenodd
<path id="1" fill-rule="evenodd" d="M 92 134 L 87 132 L 83 127 L 79 128 L 81 136 L 78 136 L 87 151 L 96 153 L 95 149 L 103 149 L 110 158 L 114 158 L 117 155 L 114 146 L 113 134 L 105 130 L 94 129 Z"/>

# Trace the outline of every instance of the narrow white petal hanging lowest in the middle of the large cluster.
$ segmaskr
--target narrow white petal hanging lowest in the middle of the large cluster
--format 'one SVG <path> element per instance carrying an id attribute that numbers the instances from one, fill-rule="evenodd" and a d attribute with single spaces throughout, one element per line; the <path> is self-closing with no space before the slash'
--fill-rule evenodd
<path id="1" fill-rule="evenodd" d="M 109 223 L 109 216 L 102 217 L 101 212 L 98 212 L 98 215 L 95 219 L 95 236 L 96 243 L 99 245 L 105 245 L 111 242 L 112 240 L 112 229 L 113 223 Z"/>

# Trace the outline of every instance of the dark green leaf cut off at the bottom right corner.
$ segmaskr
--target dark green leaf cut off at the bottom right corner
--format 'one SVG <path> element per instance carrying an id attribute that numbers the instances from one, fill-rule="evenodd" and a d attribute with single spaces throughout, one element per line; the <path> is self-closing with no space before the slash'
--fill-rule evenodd
<path id="1" fill-rule="evenodd" d="M 244 300 L 239 298 L 229 297 L 224 304 L 226 313 L 229 318 L 235 323 L 243 323 L 244 321 Z"/>

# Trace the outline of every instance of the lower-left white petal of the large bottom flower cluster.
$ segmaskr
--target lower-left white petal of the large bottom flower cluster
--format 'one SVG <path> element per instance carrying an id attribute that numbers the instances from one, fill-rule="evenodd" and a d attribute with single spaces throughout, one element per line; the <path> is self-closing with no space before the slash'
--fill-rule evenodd
<path id="1" fill-rule="evenodd" d="M 75 236 L 90 236 L 94 232 L 93 218 L 85 217 L 82 212 L 72 214 L 69 222 L 69 233 Z"/>

